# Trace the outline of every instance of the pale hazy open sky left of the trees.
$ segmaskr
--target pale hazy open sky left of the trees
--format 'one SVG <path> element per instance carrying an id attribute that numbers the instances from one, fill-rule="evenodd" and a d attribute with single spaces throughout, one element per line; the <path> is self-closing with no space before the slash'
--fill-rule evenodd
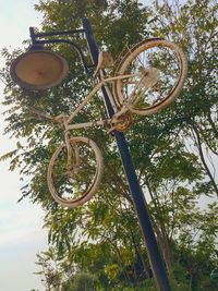
<path id="1" fill-rule="evenodd" d="M 39 26 L 40 15 L 34 10 L 37 0 L 0 0 L 0 50 L 22 48 L 28 38 L 28 27 Z M 0 58 L 0 66 L 3 60 Z M 0 104 L 3 96 L 0 81 Z M 3 135 L 3 107 L 0 105 L 0 156 L 14 148 L 15 142 Z M 10 172 L 8 162 L 0 162 L 0 290 L 45 291 L 36 253 L 47 250 L 47 232 L 43 229 L 43 210 L 21 197 L 19 172 Z"/>

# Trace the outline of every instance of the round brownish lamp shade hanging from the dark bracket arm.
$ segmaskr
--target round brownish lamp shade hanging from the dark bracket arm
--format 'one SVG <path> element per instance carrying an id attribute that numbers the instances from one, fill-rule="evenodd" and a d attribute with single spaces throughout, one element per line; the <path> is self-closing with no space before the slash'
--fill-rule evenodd
<path id="1" fill-rule="evenodd" d="M 63 81 L 69 72 L 65 59 L 49 50 L 31 50 L 11 64 L 11 77 L 26 89 L 47 89 Z"/>

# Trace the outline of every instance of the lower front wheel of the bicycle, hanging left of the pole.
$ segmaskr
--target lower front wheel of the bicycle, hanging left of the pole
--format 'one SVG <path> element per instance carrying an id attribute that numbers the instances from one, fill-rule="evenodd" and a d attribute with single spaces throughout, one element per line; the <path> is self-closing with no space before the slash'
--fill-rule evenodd
<path id="1" fill-rule="evenodd" d="M 102 177 L 102 155 L 97 144 L 86 137 L 60 145 L 48 167 L 48 186 L 52 197 L 64 207 L 77 207 L 97 192 Z"/>

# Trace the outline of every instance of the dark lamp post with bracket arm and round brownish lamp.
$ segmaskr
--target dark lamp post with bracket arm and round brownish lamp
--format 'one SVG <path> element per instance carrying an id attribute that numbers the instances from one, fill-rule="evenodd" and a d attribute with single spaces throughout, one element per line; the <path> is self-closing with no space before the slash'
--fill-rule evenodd
<path id="1" fill-rule="evenodd" d="M 40 39 L 49 36 L 72 35 L 81 33 L 85 34 L 94 68 L 96 68 L 98 63 L 98 47 L 95 41 L 90 23 L 86 17 L 84 17 L 82 29 L 35 34 L 34 29 L 31 28 L 33 47 L 29 52 L 22 54 L 12 63 L 12 78 L 19 85 L 28 89 L 45 89 L 58 85 L 68 72 L 68 64 L 60 56 L 58 56 L 57 53 L 52 54 L 52 52 L 45 50 L 43 46 L 47 44 L 60 43 L 68 44 L 77 51 L 86 74 L 89 74 L 89 66 L 87 65 L 83 51 L 77 44 L 61 38 L 46 40 Z M 41 56 L 43 60 L 40 58 Z M 35 66 L 34 69 L 29 70 L 29 66 L 32 64 L 35 64 Z M 108 116 L 109 118 L 112 118 L 114 110 L 105 87 L 102 87 L 102 94 Z M 114 131 L 113 133 L 158 289 L 160 291 L 171 291 L 166 267 L 158 250 L 157 240 L 152 227 L 147 204 L 135 173 L 128 143 L 122 132 Z"/>

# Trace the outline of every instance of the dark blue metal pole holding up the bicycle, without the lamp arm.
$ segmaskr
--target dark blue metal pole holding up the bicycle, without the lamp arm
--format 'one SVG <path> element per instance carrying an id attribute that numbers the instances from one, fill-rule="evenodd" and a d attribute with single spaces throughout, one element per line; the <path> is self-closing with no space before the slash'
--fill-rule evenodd
<path id="1" fill-rule="evenodd" d="M 97 66 L 98 47 L 95 41 L 95 37 L 93 34 L 90 23 L 86 17 L 83 19 L 83 28 L 85 31 L 85 35 L 86 35 L 87 44 L 88 44 L 90 54 L 93 58 L 93 62 L 95 66 Z M 114 111 L 110 104 L 110 100 L 109 100 L 109 97 L 108 97 L 108 94 L 105 87 L 102 87 L 102 94 L 104 94 L 108 114 L 111 118 Z M 149 214 L 147 209 L 147 204 L 146 204 L 144 194 L 141 190 L 136 173 L 135 173 L 135 169 L 132 162 L 128 143 L 125 141 L 123 133 L 118 132 L 118 131 L 114 131 L 113 133 L 114 133 L 114 137 L 118 144 L 120 156 L 122 159 L 123 168 L 125 170 L 126 179 L 128 179 L 129 186 L 131 190 L 134 207 L 135 207 L 135 210 L 138 217 L 140 226 L 143 232 L 144 241 L 147 247 L 147 254 L 149 257 L 153 274 L 156 278 L 156 281 L 157 281 L 157 284 L 160 291 L 171 291 L 168 277 L 167 277 L 167 271 L 165 268 L 165 264 L 159 253 L 155 233 L 152 227 L 152 222 L 150 222 L 150 218 L 149 218 Z"/>

